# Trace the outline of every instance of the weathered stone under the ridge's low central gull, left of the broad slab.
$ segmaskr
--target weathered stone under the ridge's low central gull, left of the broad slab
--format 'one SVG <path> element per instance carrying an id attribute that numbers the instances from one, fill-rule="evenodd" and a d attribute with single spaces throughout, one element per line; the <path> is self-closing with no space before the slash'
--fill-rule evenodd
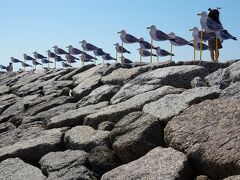
<path id="1" fill-rule="evenodd" d="M 147 68 L 144 67 L 136 67 L 131 69 L 119 68 L 113 71 L 111 74 L 102 77 L 101 81 L 103 84 L 123 85 L 146 71 Z"/>

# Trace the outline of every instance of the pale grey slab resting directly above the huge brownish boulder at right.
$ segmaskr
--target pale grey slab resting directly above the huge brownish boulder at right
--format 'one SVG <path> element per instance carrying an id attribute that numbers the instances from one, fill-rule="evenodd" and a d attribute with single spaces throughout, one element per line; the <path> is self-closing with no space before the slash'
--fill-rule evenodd
<path id="1" fill-rule="evenodd" d="M 180 114 L 192 104 L 206 99 L 218 98 L 221 90 L 218 87 L 199 87 L 189 89 L 181 94 L 170 94 L 156 102 L 146 104 L 143 112 L 157 117 L 166 124 L 172 117 Z"/>

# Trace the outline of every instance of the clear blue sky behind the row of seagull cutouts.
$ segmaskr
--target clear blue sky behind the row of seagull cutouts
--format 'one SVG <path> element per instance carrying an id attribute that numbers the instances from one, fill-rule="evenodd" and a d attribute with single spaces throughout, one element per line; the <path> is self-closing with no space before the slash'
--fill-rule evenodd
<path id="1" fill-rule="evenodd" d="M 215 7 L 222 8 L 223 26 L 240 39 L 239 0 L 1 0 L 0 64 L 8 64 L 11 56 L 22 60 L 23 53 L 32 55 L 37 51 L 46 55 L 54 45 L 80 48 L 78 42 L 83 39 L 115 56 L 113 44 L 120 42 L 118 31 L 125 29 L 150 41 L 146 27 L 152 24 L 192 40 L 188 30 L 200 27 L 196 14 Z M 170 50 L 167 41 L 154 45 Z M 228 40 L 223 46 L 220 61 L 240 58 L 239 41 Z M 138 44 L 125 47 L 132 52 L 127 58 L 139 60 Z M 174 47 L 173 53 L 175 61 L 193 59 L 193 48 L 188 46 Z M 210 59 L 208 51 L 203 53 L 203 59 Z"/>

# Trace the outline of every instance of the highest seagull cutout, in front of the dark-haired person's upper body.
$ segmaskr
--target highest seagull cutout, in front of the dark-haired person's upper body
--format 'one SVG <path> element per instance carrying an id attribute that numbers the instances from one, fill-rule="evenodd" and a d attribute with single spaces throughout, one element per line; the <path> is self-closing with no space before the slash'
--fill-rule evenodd
<path id="1" fill-rule="evenodd" d="M 216 32 L 223 30 L 221 23 L 214 21 L 212 18 L 208 17 L 207 13 L 203 11 L 202 13 L 197 14 L 201 16 L 200 23 L 202 28 L 207 32 Z"/>

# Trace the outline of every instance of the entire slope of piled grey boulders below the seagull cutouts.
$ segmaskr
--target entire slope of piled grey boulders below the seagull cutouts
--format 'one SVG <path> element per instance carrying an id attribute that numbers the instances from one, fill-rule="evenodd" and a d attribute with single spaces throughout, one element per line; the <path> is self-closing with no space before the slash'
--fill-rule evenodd
<path id="1" fill-rule="evenodd" d="M 0 179 L 239 179 L 240 61 L 0 75 Z"/>

